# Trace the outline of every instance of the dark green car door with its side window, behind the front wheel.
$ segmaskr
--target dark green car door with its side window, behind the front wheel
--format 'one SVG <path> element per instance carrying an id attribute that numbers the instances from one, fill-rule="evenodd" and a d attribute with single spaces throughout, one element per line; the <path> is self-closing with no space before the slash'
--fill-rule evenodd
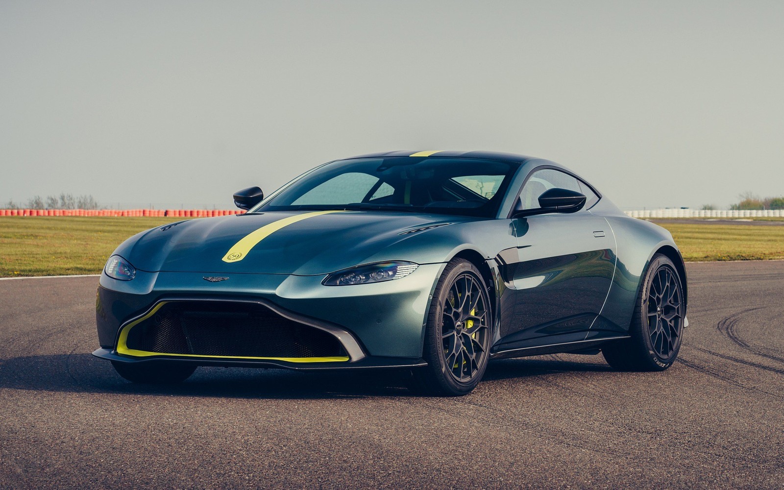
<path id="1" fill-rule="evenodd" d="M 518 206 L 535 209 L 547 189 L 582 192 L 579 186 L 574 176 L 558 169 L 535 169 Z M 585 338 L 601 312 L 615 271 L 615 238 L 607 221 L 586 209 L 593 203 L 586 202 L 574 213 L 513 220 L 518 245 L 506 251 L 510 265 L 504 275 L 511 301 L 502 314 L 499 349 Z"/>

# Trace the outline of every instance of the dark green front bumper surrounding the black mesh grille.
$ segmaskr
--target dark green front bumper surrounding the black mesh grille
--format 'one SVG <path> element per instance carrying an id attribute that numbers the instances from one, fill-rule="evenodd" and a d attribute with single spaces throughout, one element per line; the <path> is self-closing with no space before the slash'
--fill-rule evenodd
<path id="1" fill-rule="evenodd" d="M 311 369 L 421 365 L 426 311 L 436 279 L 445 264 L 423 264 L 406 278 L 367 285 L 324 286 L 324 276 L 285 274 L 220 274 L 228 279 L 205 281 L 216 274 L 138 271 L 132 281 L 101 276 L 96 300 L 100 349 L 97 357 L 112 361 L 166 358 L 198 365 L 263 365 Z M 134 356 L 118 352 L 121 328 L 169 300 L 262 303 L 279 314 L 327 330 L 349 353 L 347 362 L 290 362 L 279 359 L 210 359 Z"/>

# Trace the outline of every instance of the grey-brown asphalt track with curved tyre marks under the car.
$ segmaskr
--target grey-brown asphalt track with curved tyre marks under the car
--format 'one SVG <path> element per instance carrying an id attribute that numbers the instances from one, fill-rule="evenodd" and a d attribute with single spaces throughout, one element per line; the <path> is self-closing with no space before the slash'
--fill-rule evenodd
<path id="1" fill-rule="evenodd" d="M 96 278 L 0 281 L 0 488 L 782 488 L 784 262 L 695 263 L 681 361 L 495 361 L 473 394 L 394 375 L 92 358 Z"/>

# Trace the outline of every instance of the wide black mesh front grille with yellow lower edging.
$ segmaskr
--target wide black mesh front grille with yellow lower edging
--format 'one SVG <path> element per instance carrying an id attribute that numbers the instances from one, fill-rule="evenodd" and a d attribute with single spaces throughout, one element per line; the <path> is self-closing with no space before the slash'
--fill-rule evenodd
<path id="1" fill-rule="evenodd" d="M 256 303 L 172 302 L 134 325 L 129 349 L 238 358 L 347 356 L 328 332 Z"/>

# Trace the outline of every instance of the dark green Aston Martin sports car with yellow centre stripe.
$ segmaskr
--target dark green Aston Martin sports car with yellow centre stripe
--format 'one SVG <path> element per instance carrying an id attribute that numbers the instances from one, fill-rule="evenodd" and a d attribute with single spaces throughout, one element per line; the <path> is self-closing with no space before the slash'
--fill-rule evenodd
<path id="1" fill-rule="evenodd" d="M 670 233 L 541 158 L 368 154 L 234 201 L 247 212 L 155 227 L 109 258 L 93 354 L 120 376 L 401 368 L 413 390 L 461 395 L 498 358 L 660 371 L 688 325 Z"/>

